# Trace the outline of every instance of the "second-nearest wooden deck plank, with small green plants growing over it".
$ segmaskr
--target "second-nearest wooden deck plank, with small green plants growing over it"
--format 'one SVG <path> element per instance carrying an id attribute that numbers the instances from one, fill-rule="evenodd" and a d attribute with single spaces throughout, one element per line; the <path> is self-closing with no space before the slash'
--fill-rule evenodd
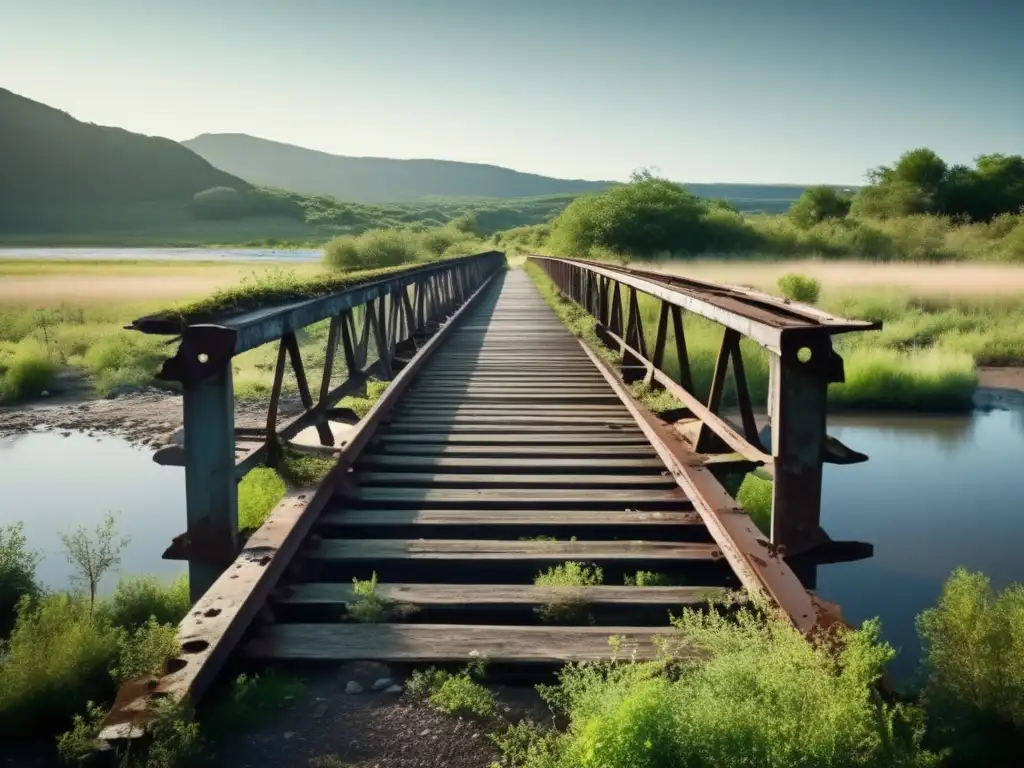
<path id="1" fill-rule="evenodd" d="M 354 585 L 298 584 L 283 602 L 291 605 L 342 605 L 355 599 Z M 385 600 L 433 606 L 544 605 L 580 600 L 592 605 L 693 605 L 722 600 L 722 587 L 536 587 L 531 584 L 378 584 Z"/>

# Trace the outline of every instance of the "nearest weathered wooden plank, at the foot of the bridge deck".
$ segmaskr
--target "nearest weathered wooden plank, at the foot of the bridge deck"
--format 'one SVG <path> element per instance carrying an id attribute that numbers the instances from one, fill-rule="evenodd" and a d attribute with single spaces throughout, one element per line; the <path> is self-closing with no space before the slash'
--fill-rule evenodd
<path id="1" fill-rule="evenodd" d="M 243 652 L 261 660 L 379 660 L 441 664 L 594 662 L 657 656 L 653 639 L 671 627 L 474 627 L 447 624 L 281 624 L 266 627 Z"/>

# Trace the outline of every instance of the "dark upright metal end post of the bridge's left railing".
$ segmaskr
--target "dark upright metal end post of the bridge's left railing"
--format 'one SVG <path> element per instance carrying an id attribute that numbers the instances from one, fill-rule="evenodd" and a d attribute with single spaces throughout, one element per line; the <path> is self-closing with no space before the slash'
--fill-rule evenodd
<path id="1" fill-rule="evenodd" d="M 185 550 L 195 603 L 234 559 L 239 502 L 234 479 L 234 387 L 230 358 L 185 384 Z"/>

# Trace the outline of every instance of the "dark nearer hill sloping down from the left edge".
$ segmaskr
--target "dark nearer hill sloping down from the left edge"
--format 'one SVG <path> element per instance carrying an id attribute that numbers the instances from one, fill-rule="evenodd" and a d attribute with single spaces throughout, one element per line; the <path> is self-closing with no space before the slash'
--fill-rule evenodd
<path id="1" fill-rule="evenodd" d="M 0 88 L 0 208 L 187 203 L 249 184 L 167 138 L 83 123 Z"/>

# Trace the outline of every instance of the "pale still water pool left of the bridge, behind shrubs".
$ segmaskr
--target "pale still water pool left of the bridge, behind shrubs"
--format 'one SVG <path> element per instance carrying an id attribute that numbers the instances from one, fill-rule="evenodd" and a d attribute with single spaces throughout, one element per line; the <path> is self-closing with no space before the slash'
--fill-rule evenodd
<path id="1" fill-rule="evenodd" d="M 184 571 L 183 563 L 160 557 L 184 530 L 182 469 L 158 466 L 151 452 L 116 437 L 84 434 L 5 437 L 0 457 L 0 525 L 25 524 L 29 546 L 43 555 L 38 575 L 47 587 L 65 588 L 71 577 L 59 534 L 91 528 L 111 511 L 120 513 L 119 530 L 131 537 L 121 573 L 170 578 Z M 100 592 L 116 583 L 116 574 L 106 577 Z"/>

